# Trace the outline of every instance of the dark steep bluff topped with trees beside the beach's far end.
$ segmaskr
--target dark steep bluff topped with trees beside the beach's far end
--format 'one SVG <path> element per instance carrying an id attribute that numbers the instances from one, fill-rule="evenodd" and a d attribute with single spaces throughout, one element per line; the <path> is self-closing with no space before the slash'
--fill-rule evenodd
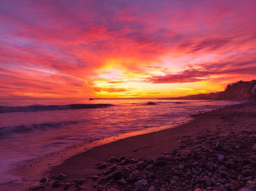
<path id="1" fill-rule="evenodd" d="M 256 80 L 237 81 L 228 84 L 225 91 L 220 92 L 218 100 L 250 100 L 256 99 Z"/>

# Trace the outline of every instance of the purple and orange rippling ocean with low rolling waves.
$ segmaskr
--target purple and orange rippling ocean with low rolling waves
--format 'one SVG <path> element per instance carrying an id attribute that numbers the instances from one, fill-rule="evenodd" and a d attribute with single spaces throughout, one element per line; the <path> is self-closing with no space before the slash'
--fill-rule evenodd
<path id="1" fill-rule="evenodd" d="M 231 101 L 27 101 L 0 103 L 0 183 L 16 165 L 121 133 L 177 124 Z"/>

